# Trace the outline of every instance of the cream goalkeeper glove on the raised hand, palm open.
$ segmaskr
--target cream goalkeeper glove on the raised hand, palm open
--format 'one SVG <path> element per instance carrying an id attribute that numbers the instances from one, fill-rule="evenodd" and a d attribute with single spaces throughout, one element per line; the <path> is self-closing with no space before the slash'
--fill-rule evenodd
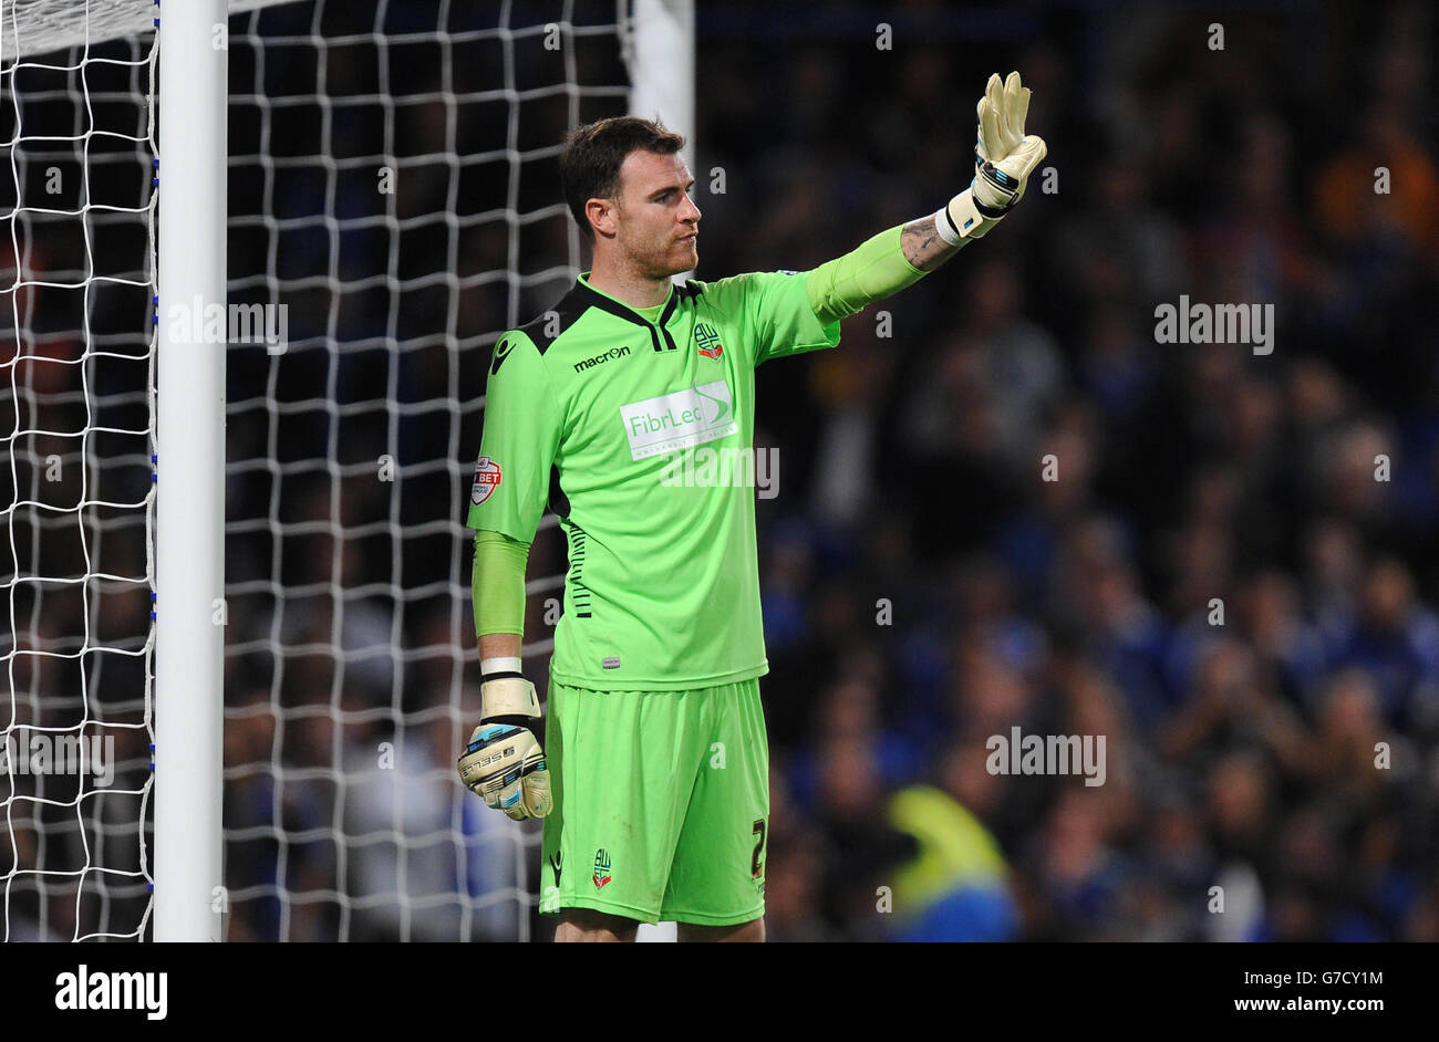
<path id="1" fill-rule="evenodd" d="M 1025 195 L 1029 175 L 1049 152 L 1045 139 L 1025 137 L 1029 88 L 1017 72 L 1000 83 L 993 75 L 976 106 L 974 180 L 935 214 L 940 237 L 951 246 L 981 239 Z"/>

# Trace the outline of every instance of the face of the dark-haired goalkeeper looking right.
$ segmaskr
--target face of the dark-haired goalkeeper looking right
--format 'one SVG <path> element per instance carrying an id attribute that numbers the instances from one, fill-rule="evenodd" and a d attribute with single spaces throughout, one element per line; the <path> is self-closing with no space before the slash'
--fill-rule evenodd
<path id="1" fill-rule="evenodd" d="M 636 149 L 625 157 L 612 210 L 613 241 L 643 276 L 663 279 L 699 263 L 699 207 L 689 198 L 694 184 L 679 152 Z"/>

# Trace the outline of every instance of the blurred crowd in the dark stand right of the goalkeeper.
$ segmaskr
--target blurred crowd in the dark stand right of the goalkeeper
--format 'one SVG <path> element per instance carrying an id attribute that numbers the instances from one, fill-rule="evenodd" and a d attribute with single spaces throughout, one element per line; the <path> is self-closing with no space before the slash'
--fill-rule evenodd
<path id="1" fill-rule="evenodd" d="M 1364 10 L 701 62 L 701 275 L 932 210 L 991 70 L 1056 171 L 760 371 L 773 939 L 1439 940 L 1436 33 Z M 1272 354 L 1157 342 L 1180 295 Z M 1016 726 L 1105 783 L 991 773 Z"/>

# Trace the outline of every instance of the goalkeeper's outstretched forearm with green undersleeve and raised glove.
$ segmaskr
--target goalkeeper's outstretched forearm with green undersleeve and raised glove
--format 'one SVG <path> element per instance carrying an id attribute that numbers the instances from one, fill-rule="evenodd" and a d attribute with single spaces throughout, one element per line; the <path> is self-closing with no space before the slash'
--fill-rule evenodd
<path id="1" fill-rule="evenodd" d="M 994 227 L 1019 203 L 1045 158 L 1043 138 L 1025 137 L 1029 89 L 1012 72 L 990 76 L 977 106 L 974 180 L 941 210 L 881 231 L 809 273 L 810 305 L 825 323 L 898 293 Z"/>

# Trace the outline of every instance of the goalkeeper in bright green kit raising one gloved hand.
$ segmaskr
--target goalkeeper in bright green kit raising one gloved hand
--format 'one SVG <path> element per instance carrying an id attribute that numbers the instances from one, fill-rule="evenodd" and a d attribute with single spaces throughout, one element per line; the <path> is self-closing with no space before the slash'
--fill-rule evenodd
<path id="1" fill-rule="evenodd" d="M 684 139 L 633 116 L 576 129 L 560 158 L 593 267 L 495 345 L 471 493 L 481 721 L 460 779 L 544 818 L 540 911 L 555 940 L 764 940 L 768 743 L 758 677 L 754 494 L 666 476 L 750 453 L 754 366 L 839 344 L 839 321 L 983 239 L 1045 142 L 1029 91 L 991 76 L 973 181 L 937 213 L 810 272 L 673 285 L 698 260 Z M 712 457 L 708 457 L 712 458 Z M 705 473 L 701 469 L 698 473 Z M 547 713 L 521 668 L 525 561 L 545 507 L 570 571 Z"/>

